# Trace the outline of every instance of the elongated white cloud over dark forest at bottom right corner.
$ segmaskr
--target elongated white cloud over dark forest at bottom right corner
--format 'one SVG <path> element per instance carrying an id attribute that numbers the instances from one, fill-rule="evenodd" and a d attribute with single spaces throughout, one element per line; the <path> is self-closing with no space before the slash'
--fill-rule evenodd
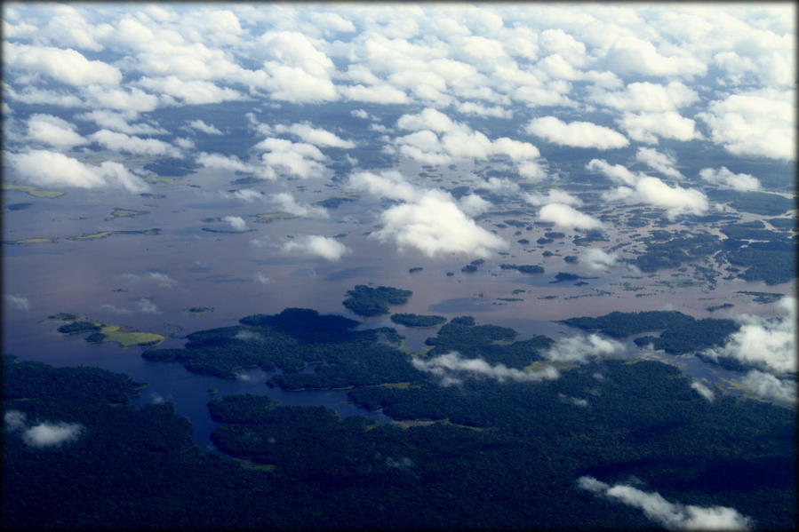
<path id="1" fill-rule="evenodd" d="M 689 530 L 747 530 L 752 520 L 727 506 L 695 506 L 670 503 L 657 492 L 625 484 L 610 486 L 594 477 L 577 480 L 579 488 L 640 508 L 644 515 L 666 528 Z"/>

